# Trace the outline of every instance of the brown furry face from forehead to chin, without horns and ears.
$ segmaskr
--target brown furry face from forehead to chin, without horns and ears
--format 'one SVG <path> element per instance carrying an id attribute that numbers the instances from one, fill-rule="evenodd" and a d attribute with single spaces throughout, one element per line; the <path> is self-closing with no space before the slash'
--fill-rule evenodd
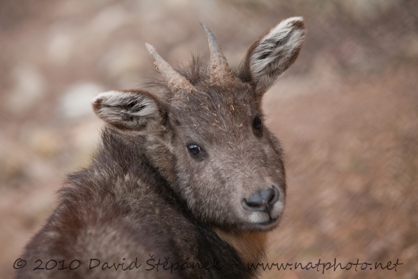
<path id="1" fill-rule="evenodd" d="M 274 226 L 284 208 L 284 165 L 254 91 L 239 81 L 201 87 L 173 103 L 170 119 L 176 187 L 194 215 L 221 227 Z"/>

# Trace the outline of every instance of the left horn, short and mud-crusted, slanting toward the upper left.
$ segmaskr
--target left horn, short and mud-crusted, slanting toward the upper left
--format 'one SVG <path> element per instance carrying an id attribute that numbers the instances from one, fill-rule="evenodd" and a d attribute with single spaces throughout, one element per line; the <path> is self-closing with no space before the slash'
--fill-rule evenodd
<path id="1" fill-rule="evenodd" d="M 180 90 L 186 92 L 196 91 L 194 86 L 183 76 L 174 70 L 167 61 L 162 59 L 160 54 L 157 53 L 155 47 L 146 43 L 146 49 L 151 57 L 154 59 L 154 67 L 162 74 L 164 81 L 169 86 L 171 92 L 176 93 Z"/>

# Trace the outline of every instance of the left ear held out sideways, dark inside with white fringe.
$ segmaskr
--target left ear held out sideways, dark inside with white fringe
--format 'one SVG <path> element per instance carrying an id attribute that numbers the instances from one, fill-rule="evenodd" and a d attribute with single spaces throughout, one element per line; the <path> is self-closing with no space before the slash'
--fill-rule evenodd
<path id="1" fill-rule="evenodd" d="M 100 119 L 121 130 L 164 129 L 167 108 L 147 91 L 107 91 L 93 98 L 92 106 Z"/>

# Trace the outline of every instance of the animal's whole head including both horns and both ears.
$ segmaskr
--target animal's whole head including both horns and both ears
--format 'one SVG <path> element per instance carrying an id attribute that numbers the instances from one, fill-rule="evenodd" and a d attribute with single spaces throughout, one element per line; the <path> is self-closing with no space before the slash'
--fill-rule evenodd
<path id="1" fill-rule="evenodd" d="M 139 152 L 167 177 L 198 222 L 271 229 L 284 209 L 286 179 L 279 143 L 263 124 L 261 100 L 300 52 L 304 22 L 290 18 L 258 38 L 235 73 L 215 36 L 202 27 L 209 66 L 195 61 L 173 70 L 146 45 L 164 88 L 101 93 L 93 109 L 127 137 L 144 141 Z"/>

